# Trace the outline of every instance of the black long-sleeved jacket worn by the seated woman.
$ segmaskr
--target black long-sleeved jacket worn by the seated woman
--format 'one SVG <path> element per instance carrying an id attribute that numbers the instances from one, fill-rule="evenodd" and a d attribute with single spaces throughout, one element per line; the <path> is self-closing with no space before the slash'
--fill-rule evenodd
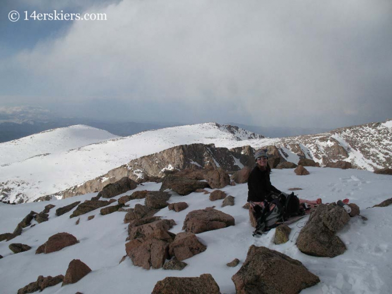
<path id="1" fill-rule="evenodd" d="M 270 172 L 261 171 L 256 167 L 250 172 L 248 179 L 248 199 L 247 201 L 262 202 L 264 199 L 271 201 L 270 193 L 280 194 L 278 189 L 272 186 L 270 181 Z"/>

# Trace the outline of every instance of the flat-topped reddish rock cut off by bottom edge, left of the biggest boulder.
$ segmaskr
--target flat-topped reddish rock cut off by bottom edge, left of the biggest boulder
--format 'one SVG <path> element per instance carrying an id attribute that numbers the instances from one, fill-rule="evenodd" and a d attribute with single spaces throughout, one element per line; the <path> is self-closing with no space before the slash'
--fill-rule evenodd
<path id="1" fill-rule="evenodd" d="M 155 284 L 151 294 L 220 294 L 220 289 L 211 274 L 198 278 L 166 277 Z"/>

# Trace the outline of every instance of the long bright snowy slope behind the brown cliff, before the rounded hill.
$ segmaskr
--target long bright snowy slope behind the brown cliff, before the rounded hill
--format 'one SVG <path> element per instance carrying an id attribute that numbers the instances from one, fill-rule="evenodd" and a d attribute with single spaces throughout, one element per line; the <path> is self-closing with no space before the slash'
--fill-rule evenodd
<path id="1" fill-rule="evenodd" d="M 260 137 L 243 129 L 238 131 L 231 132 L 217 123 L 177 126 L 31 157 L 0 167 L 0 192 L 11 202 L 22 198 L 32 201 L 93 179 L 131 159 L 173 146 L 214 143 L 217 147 L 234 147 L 246 145 L 238 141 L 245 134 L 247 138 Z"/>

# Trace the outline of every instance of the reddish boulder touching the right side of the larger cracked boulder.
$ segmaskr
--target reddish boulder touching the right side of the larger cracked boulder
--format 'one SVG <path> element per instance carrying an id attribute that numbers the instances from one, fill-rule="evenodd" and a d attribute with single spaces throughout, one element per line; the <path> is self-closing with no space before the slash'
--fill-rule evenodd
<path id="1" fill-rule="evenodd" d="M 184 260 L 205 251 L 207 247 L 192 233 L 178 233 L 169 246 L 169 254 L 177 260 Z"/>

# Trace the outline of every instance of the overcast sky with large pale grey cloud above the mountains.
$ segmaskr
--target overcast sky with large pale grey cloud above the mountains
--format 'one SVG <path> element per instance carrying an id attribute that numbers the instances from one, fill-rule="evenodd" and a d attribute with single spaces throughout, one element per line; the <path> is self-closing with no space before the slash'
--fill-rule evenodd
<path id="1" fill-rule="evenodd" d="M 0 111 L 323 128 L 392 118 L 391 0 L 79 2 L 1 1 Z M 107 20 L 30 17 L 53 10 Z"/>

